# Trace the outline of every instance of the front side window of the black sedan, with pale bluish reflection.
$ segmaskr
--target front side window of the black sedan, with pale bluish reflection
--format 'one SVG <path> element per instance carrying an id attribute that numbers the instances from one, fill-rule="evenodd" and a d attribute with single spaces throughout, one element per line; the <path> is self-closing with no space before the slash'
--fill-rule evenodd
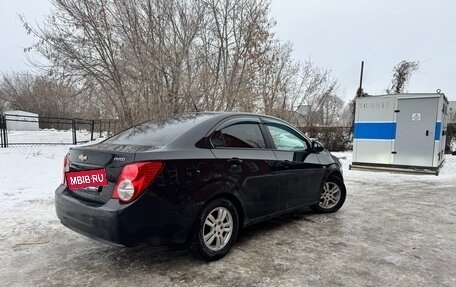
<path id="1" fill-rule="evenodd" d="M 266 124 L 271 133 L 274 145 L 278 150 L 306 150 L 307 141 L 302 139 L 294 130 L 281 124 Z"/>

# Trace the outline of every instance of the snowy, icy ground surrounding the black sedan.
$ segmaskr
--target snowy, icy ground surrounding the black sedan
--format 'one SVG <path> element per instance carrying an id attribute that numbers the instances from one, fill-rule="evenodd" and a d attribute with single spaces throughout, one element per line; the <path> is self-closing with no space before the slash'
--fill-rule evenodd
<path id="1" fill-rule="evenodd" d="M 456 286 L 456 156 L 440 175 L 348 170 L 345 206 L 247 230 L 223 260 L 122 249 L 54 211 L 68 146 L 0 149 L 2 286 Z"/>

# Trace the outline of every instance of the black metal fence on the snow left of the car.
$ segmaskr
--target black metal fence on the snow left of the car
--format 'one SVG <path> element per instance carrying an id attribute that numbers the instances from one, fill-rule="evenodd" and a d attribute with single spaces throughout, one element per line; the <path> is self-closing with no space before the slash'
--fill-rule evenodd
<path id="1" fill-rule="evenodd" d="M 0 147 L 78 144 L 117 132 L 116 120 L 0 115 Z"/>

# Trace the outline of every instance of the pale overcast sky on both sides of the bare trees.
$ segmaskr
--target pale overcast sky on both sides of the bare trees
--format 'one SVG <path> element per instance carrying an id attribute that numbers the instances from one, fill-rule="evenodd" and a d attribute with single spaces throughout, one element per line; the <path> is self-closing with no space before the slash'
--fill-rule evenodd
<path id="1" fill-rule="evenodd" d="M 359 83 L 383 94 L 392 68 L 401 60 L 419 61 L 409 92 L 441 89 L 456 100 L 456 1 L 454 0 L 273 0 L 279 39 L 290 41 L 300 61 L 332 71 L 341 96 L 351 98 Z M 48 0 L 0 0 L 0 72 L 24 71 L 24 47 L 33 43 L 17 14 L 40 23 Z"/>

